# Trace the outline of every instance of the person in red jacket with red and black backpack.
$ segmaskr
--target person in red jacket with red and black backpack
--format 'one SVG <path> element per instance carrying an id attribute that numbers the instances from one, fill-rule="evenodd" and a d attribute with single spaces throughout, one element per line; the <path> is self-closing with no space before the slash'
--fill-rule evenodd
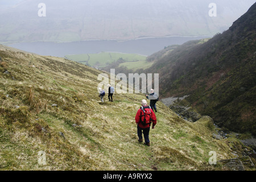
<path id="1" fill-rule="evenodd" d="M 138 110 L 135 121 L 137 123 L 137 134 L 138 134 L 138 141 L 143 142 L 142 133 L 144 135 L 144 144 L 147 146 L 150 146 L 150 139 L 149 139 L 149 133 L 150 133 L 150 125 L 152 123 L 152 129 L 155 129 L 156 125 L 156 116 L 154 111 L 151 109 L 150 106 L 147 106 L 147 101 L 142 100 L 141 102 L 141 108 Z"/>

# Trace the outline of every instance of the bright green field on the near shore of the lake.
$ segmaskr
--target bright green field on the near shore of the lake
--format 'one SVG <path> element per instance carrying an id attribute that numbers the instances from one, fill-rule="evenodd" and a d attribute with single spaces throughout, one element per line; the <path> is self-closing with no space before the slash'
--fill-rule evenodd
<path id="1" fill-rule="evenodd" d="M 135 63 L 135 61 L 146 61 L 146 56 L 133 53 L 101 52 L 96 54 L 67 55 L 65 58 L 73 60 L 90 67 L 106 67 L 107 65 L 123 59 L 126 62 Z"/>

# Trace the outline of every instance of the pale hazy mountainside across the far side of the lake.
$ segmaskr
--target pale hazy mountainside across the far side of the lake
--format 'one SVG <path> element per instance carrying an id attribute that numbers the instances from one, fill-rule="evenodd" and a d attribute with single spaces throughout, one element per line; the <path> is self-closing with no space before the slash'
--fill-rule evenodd
<path id="1" fill-rule="evenodd" d="M 161 36 L 215 35 L 231 26 L 254 0 L 214 1 L 45 0 L 46 16 L 39 17 L 39 0 L 0 2 L 0 42 L 134 39 Z"/>

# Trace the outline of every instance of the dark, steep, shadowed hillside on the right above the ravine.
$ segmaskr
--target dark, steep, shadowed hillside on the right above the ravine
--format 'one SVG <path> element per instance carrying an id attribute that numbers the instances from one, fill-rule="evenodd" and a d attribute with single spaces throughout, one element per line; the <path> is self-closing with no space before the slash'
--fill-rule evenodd
<path id="1" fill-rule="evenodd" d="M 233 131 L 256 134 L 256 3 L 229 30 L 178 46 L 147 72 L 159 73 L 162 97 L 183 97 Z M 187 104 L 187 103 L 186 103 Z"/>

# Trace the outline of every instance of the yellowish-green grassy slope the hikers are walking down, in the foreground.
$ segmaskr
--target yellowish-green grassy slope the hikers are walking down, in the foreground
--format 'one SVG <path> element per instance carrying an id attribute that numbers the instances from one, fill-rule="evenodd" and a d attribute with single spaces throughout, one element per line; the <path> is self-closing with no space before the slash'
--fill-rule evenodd
<path id="1" fill-rule="evenodd" d="M 187 122 L 161 102 L 147 147 L 138 143 L 134 121 L 141 94 L 101 103 L 100 71 L 3 46 L 0 57 L 1 170 L 215 170 L 228 168 L 210 166 L 209 151 L 217 160 L 250 151 L 234 137 L 213 138 L 209 117 Z M 39 151 L 46 165 L 39 165 Z"/>

